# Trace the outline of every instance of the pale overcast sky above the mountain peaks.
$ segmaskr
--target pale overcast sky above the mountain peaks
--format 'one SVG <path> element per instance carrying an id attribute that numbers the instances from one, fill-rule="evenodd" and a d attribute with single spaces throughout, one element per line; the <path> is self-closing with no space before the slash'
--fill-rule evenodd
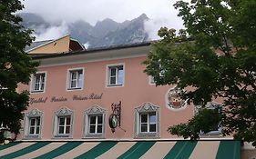
<path id="1" fill-rule="evenodd" d="M 182 21 L 172 6 L 176 0 L 25 0 L 23 12 L 42 15 L 48 22 L 74 22 L 83 19 L 95 25 L 111 18 L 117 22 L 130 20 L 145 13 L 149 35 L 156 38 L 160 26 L 179 30 Z"/>

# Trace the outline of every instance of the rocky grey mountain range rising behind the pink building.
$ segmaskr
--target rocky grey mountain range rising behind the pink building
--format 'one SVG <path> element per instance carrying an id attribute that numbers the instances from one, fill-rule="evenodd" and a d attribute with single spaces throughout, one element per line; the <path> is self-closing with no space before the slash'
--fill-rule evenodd
<path id="1" fill-rule="evenodd" d="M 79 20 L 75 23 L 48 23 L 43 17 L 30 13 L 19 14 L 23 18 L 23 25 L 26 28 L 33 29 L 35 35 L 41 35 L 52 27 L 65 25 L 67 33 L 77 39 L 82 44 L 88 44 L 88 47 L 103 47 L 109 45 L 125 45 L 148 41 L 148 34 L 144 29 L 144 22 L 148 16 L 142 14 L 130 21 L 123 23 L 115 22 L 112 19 L 98 21 L 96 25 Z"/>

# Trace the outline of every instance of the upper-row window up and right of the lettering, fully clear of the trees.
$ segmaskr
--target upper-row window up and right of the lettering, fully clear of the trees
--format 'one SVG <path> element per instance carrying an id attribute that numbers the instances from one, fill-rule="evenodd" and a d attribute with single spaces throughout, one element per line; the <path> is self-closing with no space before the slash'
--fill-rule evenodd
<path id="1" fill-rule="evenodd" d="M 124 84 L 124 65 L 108 66 L 108 86 Z"/>

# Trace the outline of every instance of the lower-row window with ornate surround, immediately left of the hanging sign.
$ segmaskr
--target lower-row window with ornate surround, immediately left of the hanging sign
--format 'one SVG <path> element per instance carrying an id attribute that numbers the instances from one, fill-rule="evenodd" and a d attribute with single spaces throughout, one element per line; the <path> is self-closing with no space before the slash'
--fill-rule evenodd
<path id="1" fill-rule="evenodd" d="M 106 110 L 94 105 L 85 112 L 85 137 L 103 138 L 105 134 Z"/>

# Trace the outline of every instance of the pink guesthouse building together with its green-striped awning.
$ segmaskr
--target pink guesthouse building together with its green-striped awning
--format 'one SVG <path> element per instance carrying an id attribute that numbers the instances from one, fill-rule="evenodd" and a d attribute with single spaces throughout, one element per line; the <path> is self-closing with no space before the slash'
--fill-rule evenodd
<path id="1" fill-rule="evenodd" d="M 197 109 L 179 98 L 175 85 L 156 87 L 143 72 L 149 50 L 145 43 L 35 55 L 36 74 L 18 87 L 30 92 L 19 136 L 26 142 L 0 147 L 0 156 L 240 158 L 240 142 L 189 142 L 169 134 L 170 125 L 186 123 Z M 220 137 L 219 131 L 206 136 Z"/>

